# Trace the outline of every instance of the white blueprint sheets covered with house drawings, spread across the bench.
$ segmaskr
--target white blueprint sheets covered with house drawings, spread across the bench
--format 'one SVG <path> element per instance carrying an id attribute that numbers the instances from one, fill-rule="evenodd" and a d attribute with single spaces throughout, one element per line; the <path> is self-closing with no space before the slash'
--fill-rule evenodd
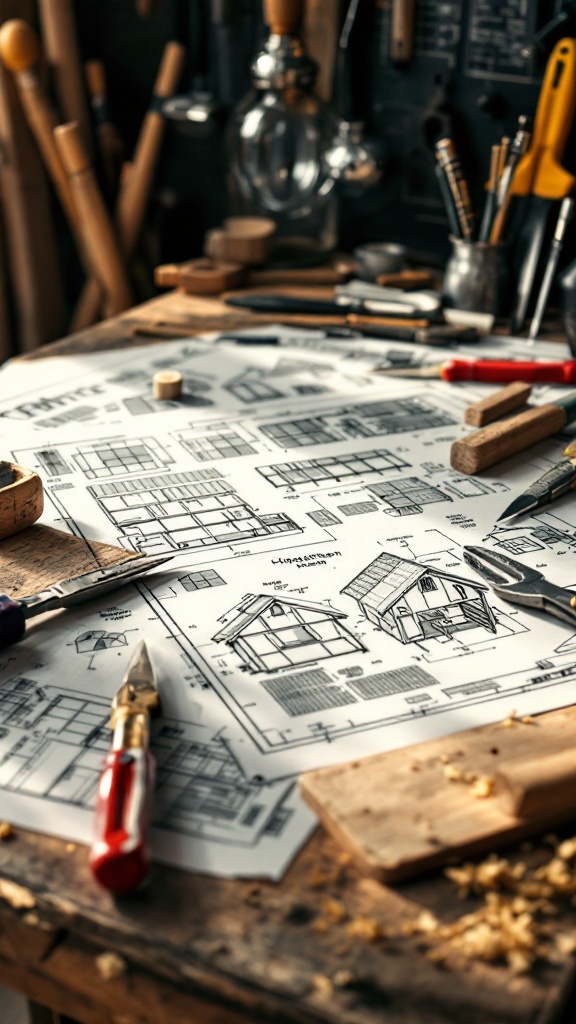
<path id="1" fill-rule="evenodd" d="M 301 771 L 572 702 L 575 631 L 497 599 L 461 553 L 488 544 L 576 586 L 570 496 L 494 525 L 562 442 L 463 476 L 450 445 L 486 389 L 367 372 L 450 350 L 282 338 L 0 374 L 4 457 L 41 475 L 42 521 L 171 556 L 34 621 L 0 655 L 0 806 L 14 823 L 89 841 L 110 699 L 141 638 L 163 707 L 153 852 L 220 874 L 282 874 L 315 822 Z M 152 397 L 166 367 L 182 372 L 181 401 Z"/>

